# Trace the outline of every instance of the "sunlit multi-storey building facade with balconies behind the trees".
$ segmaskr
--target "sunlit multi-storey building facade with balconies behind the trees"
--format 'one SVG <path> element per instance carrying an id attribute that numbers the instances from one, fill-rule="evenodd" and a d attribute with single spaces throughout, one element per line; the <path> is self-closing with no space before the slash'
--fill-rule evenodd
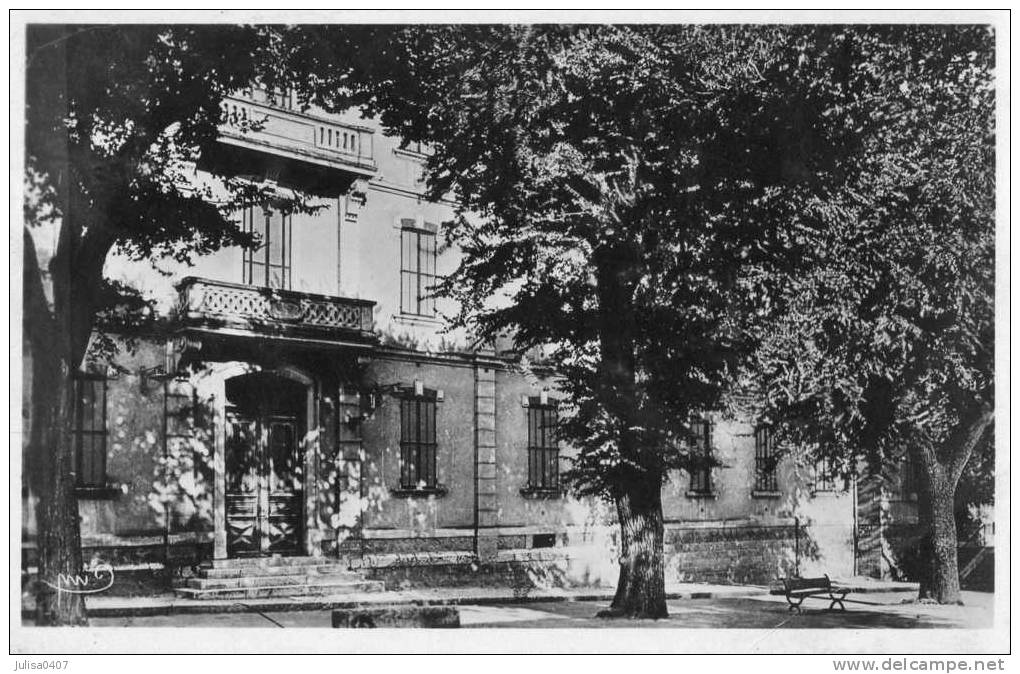
<path id="1" fill-rule="evenodd" d="M 264 123 L 241 133 L 241 119 Z M 108 263 L 166 321 L 76 380 L 87 559 L 321 557 L 431 582 L 516 564 L 615 581 L 612 509 L 560 482 L 571 450 L 552 432 L 554 373 L 449 330 L 451 307 L 428 293 L 457 251 L 440 235 L 454 204 L 423 197 L 424 158 L 355 115 L 226 99 L 219 151 L 195 179 L 250 176 L 282 199 L 313 193 L 318 209 L 240 213 L 261 247 L 188 268 Z M 709 415 L 696 442 L 719 465 L 664 487 L 669 580 L 849 576 L 870 559 L 856 485 L 777 460 L 754 419 Z"/>

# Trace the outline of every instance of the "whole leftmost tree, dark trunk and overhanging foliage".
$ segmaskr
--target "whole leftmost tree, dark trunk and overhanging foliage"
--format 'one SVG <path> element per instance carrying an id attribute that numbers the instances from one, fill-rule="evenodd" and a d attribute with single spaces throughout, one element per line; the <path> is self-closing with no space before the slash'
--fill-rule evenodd
<path id="1" fill-rule="evenodd" d="M 31 25 L 27 33 L 24 342 L 32 356 L 27 475 L 39 496 L 37 624 L 83 624 L 71 383 L 104 320 L 140 317 L 138 293 L 106 280 L 111 251 L 135 260 L 253 245 L 232 214 L 263 186 L 194 179 L 220 101 L 258 81 L 272 32 L 242 27 Z M 251 124 L 255 127 L 257 124 Z M 215 198 L 214 198 L 215 196 Z M 296 200 L 287 208 L 302 208 Z M 55 232 L 53 250 L 40 245 Z M 42 259 L 40 259 L 42 256 Z M 48 262 L 47 262 L 47 259 Z"/>

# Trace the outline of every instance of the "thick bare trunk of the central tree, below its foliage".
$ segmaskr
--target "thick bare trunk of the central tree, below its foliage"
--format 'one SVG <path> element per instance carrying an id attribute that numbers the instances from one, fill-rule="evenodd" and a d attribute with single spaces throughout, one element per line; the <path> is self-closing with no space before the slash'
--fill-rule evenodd
<path id="1" fill-rule="evenodd" d="M 616 503 L 620 520 L 620 577 L 605 616 L 665 618 L 662 480 L 635 480 Z"/>

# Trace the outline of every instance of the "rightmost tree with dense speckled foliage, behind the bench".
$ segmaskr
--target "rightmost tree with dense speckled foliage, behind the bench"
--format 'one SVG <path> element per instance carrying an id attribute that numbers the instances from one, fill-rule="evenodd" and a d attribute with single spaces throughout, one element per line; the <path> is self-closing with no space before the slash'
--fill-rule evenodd
<path id="1" fill-rule="evenodd" d="M 845 474 L 922 467 L 921 598 L 959 601 L 954 503 L 990 447 L 994 384 L 993 36 L 854 30 L 872 82 L 859 169 L 805 230 L 754 376 L 793 444 Z M 987 455 L 988 452 L 984 452 Z"/>

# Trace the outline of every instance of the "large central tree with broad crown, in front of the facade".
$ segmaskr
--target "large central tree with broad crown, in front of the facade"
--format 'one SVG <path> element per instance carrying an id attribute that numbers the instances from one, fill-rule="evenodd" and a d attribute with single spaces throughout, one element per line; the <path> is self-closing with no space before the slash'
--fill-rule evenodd
<path id="1" fill-rule="evenodd" d="M 666 614 L 661 489 L 704 467 L 691 420 L 754 352 L 747 323 L 860 146 L 850 45 L 814 28 L 289 31 L 306 96 L 427 144 L 463 252 L 455 323 L 553 345 L 568 477 L 616 509 L 611 614 Z M 840 107 L 843 106 L 843 107 Z"/>

